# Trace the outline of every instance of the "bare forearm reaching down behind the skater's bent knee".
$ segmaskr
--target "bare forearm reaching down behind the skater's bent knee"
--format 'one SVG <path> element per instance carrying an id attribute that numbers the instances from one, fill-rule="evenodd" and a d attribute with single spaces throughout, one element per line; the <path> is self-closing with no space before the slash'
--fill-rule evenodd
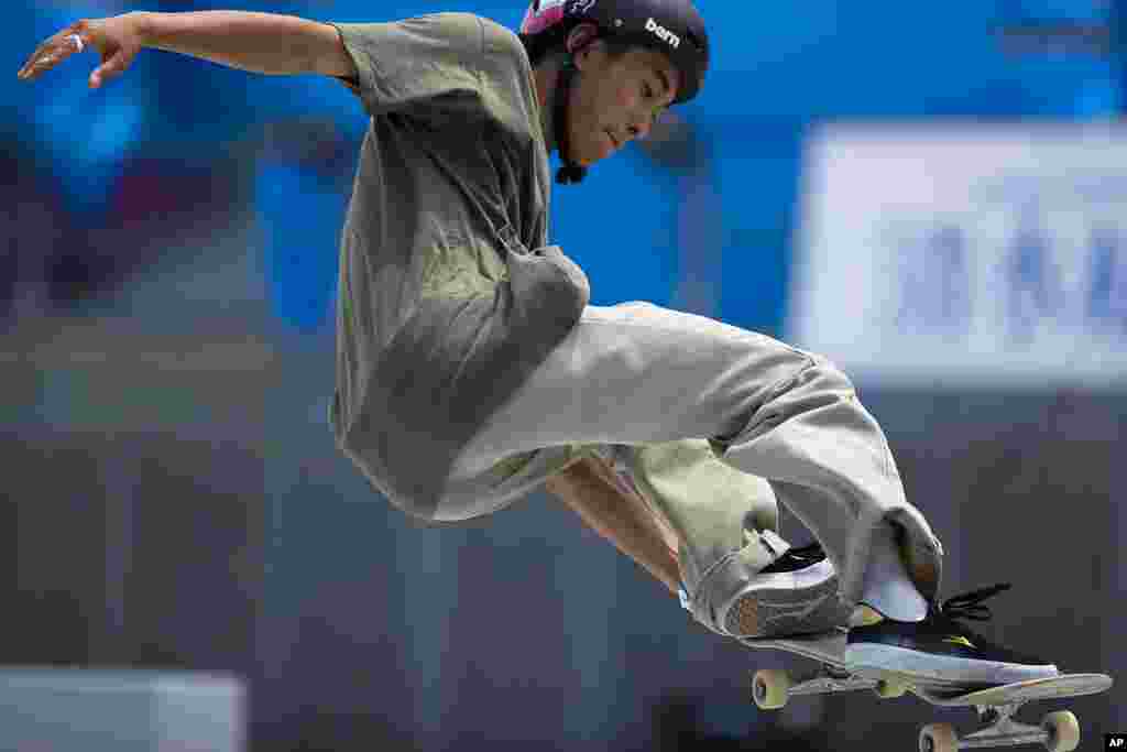
<path id="1" fill-rule="evenodd" d="M 605 462 L 586 458 L 570 466 L 548 479 L 548 492 L 677 594 L 681 566 L 675 538 L 663 530 L 642 498 L 615 479 L 614 470 Z"/>

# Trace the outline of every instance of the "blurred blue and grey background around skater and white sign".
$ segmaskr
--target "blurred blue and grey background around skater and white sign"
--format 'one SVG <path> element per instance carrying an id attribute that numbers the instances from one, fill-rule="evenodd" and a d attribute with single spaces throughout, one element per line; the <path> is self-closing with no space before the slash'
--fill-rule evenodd
<path id="1" fill-rule="evenodd" d="M 1122 0 L 699 5 L 703 96 L 556 192 L 552 241 L 594 303 L 786 337 L 820 126 L 1020 134 L 1127 106 Z M 15 77 L 79 18 L 214 8 L 515 27 L 525 6 L 6 3 L 0 664 L 230 672 L 256 750 L 908 749 L 934 715 L 911 699 L 756 710 L 747 671 L 787 660 L 693 625 L 542 493 L 458 529 L 372 493 L 323 421 L 358 100 L 156 51 L 97 91 L 92 55 Z M 944 541 L 948 590 L 1013 581 L 985 630 L 1113 673 L 1127 404 L 1108 369 L 1099 386 L 859 387 Z M 787 515 L 784 533 L 806 536 Z M 1127 728 L 1122 698 L 1067 704 L 1088 743 Z"/>

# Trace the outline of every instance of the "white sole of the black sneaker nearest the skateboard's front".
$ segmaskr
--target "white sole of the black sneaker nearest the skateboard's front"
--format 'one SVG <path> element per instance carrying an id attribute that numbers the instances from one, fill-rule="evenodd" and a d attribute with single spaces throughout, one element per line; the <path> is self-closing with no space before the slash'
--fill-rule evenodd
<path id="1" fill-rule="evenodd" d="M 850 670 L 891 672 L 907 679 L 960 685 L 1012 684 L 1059 675 L 1055 665 L 1023 666 L 976 661 L 876 643 L 849 645 L 843 657 Z"/>

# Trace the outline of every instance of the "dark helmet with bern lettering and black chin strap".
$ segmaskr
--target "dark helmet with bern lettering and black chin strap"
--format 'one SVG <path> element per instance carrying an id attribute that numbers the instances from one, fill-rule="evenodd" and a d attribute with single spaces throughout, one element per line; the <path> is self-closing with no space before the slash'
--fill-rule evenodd
<path id="1" fill-rule="evenodd" d="M 544 53 L 561 46 L 578 24 L 594 24 L 601 37 L 637 44 L 665 53 L 681 73 L 673 104 L 695 97 L 704 83 L 709 62 L 704 19 L 690 0 L 533 0 L 521 24 L 520 37 L 533 65 Z M 567 89 L 575 73 L 567 65 L 557 97 L 556 132 L 565 167 L 559 183 L 578 183 L 586 169 L 568 159 L 562 130 Z"/>

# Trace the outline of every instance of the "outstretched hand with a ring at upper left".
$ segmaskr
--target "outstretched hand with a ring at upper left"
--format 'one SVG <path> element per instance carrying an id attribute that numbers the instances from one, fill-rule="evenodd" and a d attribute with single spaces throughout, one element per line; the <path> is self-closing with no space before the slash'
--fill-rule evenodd
<path id="1" fill-rule="evenodd" d="M 19 70 L 21 81 L 35 80 L 77 52 L 97 50 L 101 65 L 90 73 L 90 88 L 128 68 L 144 46 L 141 14 L 80 20 L 50 37 Z"/>

